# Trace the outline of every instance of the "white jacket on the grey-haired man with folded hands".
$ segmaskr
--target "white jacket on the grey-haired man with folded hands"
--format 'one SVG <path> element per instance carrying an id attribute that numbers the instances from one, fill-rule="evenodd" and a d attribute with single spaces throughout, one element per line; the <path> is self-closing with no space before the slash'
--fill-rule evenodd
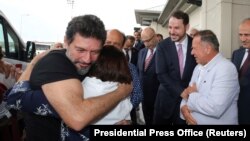
<path id="1" fill-rule="evenodd" d="M 238 73 L 229 60 L 217 54 L 207 65 L 197 65 L 190 85 L 197 92 L 182 100 L 192 111 L 197 124 L 238 124 Z"/>

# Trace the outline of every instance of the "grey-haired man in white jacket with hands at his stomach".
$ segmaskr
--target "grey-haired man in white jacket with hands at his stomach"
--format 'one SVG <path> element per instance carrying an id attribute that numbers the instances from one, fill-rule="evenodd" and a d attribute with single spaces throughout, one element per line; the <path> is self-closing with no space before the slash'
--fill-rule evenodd
<path id="1" fill-rule="evenodd" d="M 219 53 L 216 35 L 210 30 L 198 32 L 191 53 L 198 65 L 181 94 L 181 117 L 192 125 L 238 124 L 238 73 Z"/>

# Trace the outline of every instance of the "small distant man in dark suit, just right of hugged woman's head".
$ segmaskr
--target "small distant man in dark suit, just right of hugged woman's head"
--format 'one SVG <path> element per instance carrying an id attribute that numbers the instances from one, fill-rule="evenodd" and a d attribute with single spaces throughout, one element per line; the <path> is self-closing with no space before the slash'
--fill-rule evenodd
<path id="1" fill-rule="evenodd" d="M 128 62 L 137 66 L 138 50 L 136 48 L 133 48 L 134 43 L 135 37 L 127 35 L 122 51 L 124 52 Z"/>

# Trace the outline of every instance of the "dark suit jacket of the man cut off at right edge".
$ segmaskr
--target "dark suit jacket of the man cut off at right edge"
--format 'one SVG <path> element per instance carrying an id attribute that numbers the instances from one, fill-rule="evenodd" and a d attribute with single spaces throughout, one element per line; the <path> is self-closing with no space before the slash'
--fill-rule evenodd
<path id="1" fill-rule="evenodd" d="M 245 48 L 241 47 L 233 52 L 232 62 L 235 64 L 238 72 L 245 54 Z M 244 76 L 239 80 L 240 95 L 238 100 L 239 124 L 250 124 L 250 67 Z"/>

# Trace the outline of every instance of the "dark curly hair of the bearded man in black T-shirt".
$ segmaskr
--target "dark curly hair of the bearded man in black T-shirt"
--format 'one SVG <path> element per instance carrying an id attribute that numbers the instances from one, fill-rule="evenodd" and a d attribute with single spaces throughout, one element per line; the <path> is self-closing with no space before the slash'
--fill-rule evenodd
<path id="1" fill-rule="evenodd" d="M 66 29 L 66 38 L 70 43 L 73 42 L 76 33 L 83 37 L 92 37 L 102 41 L 106 40 L 106 30 L 103 22 L 95 15 L 83 15 L 74 17 Z"/>

